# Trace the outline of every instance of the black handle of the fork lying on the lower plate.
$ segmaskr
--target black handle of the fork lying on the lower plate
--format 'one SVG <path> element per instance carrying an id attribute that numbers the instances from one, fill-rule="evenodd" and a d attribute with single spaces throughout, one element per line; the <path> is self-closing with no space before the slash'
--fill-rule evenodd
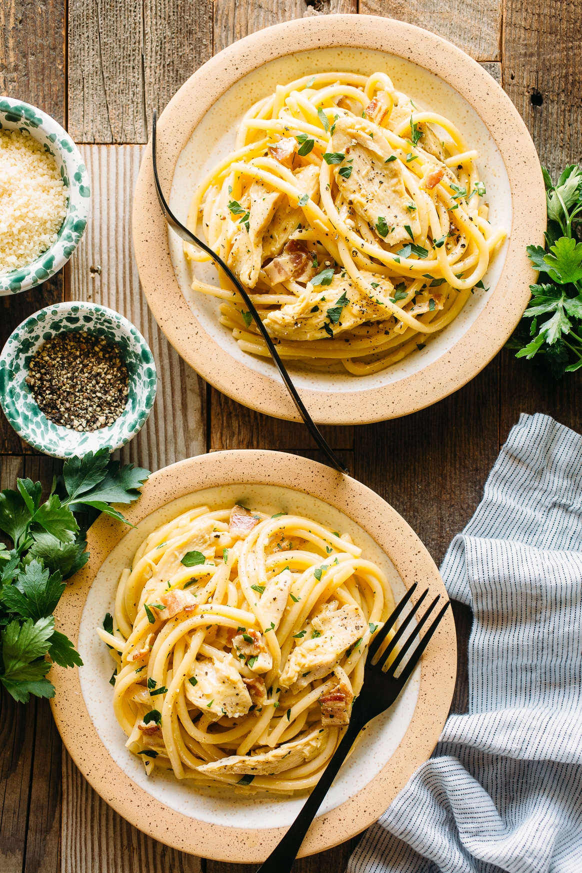
<path id="1" fill-rule="evenodd" d="M 338 748 L 333 753 L 329 764 L 321 774 L 318 784 L 313 788 L 298 817 L 293 821 L 291 828 L 284 835 L 281 842 L 270 853 L 267 860 L 261 864 L 257 873 L 290 873 L 297 853 L 301 848 L 305 834 L 315 818 L 318 808 L 321 806 L 325 794 L 329 791 L 332 781 L 338 774 L 339 767 L 346 760 L 347 754 L 353 746 L 353 742 L 360 730 L 366 725 L 367 718 L 357 718 L 352 714 L 350 724 L 344 734 Z"/>

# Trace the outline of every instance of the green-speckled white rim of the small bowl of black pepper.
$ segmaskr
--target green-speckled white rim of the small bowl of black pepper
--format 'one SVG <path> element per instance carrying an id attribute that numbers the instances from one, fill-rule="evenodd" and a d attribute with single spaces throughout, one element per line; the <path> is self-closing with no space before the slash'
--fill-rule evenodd
<path id="1" fill-rule="evenodd" d="M 92 433 L 54 424 L 38 408 L 24 381 L 31 358 L 57 333 L 86 331 L 120 347 L 129 375 L 129 395 L 120 417 Z M 103 447 L 120 449 L 139 433 L 155 400 L 154 356 L 141 333 L 120 313 L 94 303 L 57 303 L 39 309 L 18 325 L 0 354 L 0 404 L 26 443 L 52 457 L 84 455 Z"/>

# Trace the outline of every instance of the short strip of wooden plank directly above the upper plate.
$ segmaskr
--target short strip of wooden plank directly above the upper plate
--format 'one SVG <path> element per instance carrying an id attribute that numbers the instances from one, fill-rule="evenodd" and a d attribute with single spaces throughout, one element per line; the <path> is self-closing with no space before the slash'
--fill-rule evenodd
<path id="1" fill-rule="evenodd" d="M 309 15 L 356 12 L 357 0 L 215 0 L 213 54 L 272 24 Z M 360 10 L 361 11 L 361 10 Z"/>

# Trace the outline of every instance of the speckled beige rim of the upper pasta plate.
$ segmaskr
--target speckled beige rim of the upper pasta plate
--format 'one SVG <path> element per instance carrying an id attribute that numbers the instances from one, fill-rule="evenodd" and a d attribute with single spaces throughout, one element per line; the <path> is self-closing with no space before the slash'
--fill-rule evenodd
<path id="1" fill-rule="evenodd" d="M 318 423 L 371 423 L 406 416 L 462 388 L 509 339 L 530 299 L 529 285 L 535 280 L 525 247 L 544 244 L 544 181 L 536 148 L 517 109 L 490 74 L 461 49 L 434 33 L 390 18 L 322 15 L 276 24 L 239 40 L 181 86 L 158 122 L 158 168 L 166 194 L 192 131 L 230 86 L 274 58 L 333 46 L 368 48 L 407 58 L 455 88 L 483 120 L 501 152 L 513 207 L 509 248 L 496 288 L 473 325 L 440 358 L 398 382 L 351 390 L 349 403 L 340 402 L 339 391 L 300 389 L 305 406 Z M 275 370 L 270 378 L 235 361 L 206 333 L 184 299 L 155 195 L 151 143 L 135 191 L 133 228 L 135 258 L 147 303 L 178 354 L 233 400 L 257 412 L 298 421 Z"/>

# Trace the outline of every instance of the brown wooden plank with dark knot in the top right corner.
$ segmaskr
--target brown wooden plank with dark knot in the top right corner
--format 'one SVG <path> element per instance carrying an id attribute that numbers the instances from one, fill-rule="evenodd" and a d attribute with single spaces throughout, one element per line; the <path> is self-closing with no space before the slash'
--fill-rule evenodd
<path id="1" fill-rule="evenodd" d="M 503 87 L 551 173 L 580 160 L 581 79 L 582 3 L 504 0 Z"/>

